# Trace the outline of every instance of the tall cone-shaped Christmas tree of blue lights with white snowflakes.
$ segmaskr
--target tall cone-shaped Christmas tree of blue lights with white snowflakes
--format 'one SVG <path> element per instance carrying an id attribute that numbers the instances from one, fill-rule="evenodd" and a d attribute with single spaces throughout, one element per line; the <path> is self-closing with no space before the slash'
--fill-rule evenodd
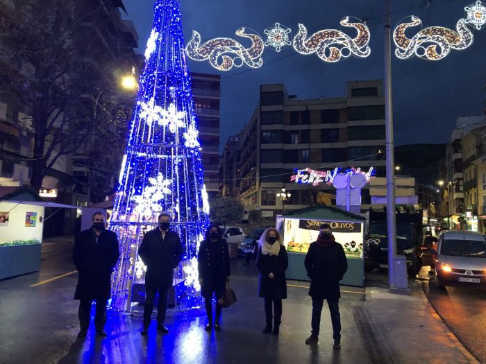
<path id="1" fill-rule="evenodd" d="M 171 229 L 185 248 L 174 273 L 176 304 L 190 308 L 201 303 L 196 254 L 209 204 L 177 0 L 156 1 L 145 58 L 110 220 L 121 254 L 112 307 L 121 311 L 131 311 L 143 299 L 145 267 L 137 249 L 144 233 L 158 226 L 162 211 L 171 215 Z"/>

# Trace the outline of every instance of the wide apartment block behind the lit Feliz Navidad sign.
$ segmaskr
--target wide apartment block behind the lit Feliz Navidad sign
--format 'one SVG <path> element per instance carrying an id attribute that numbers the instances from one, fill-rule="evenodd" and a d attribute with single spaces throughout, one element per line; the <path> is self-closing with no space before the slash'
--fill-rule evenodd
<path id="1" fill-rule="evenodd" d="M 296 170 L 355 167 L 385 175 L 385 99 L 381 80 L 346 83 L 340 98 L 300 100 L 283 84 L 261 85 L 260 103 L 241 135 L 240 199 L 252 220 L 274 220 L 287 209 L 334 193 L 326 183 L 292 181 Z M 285 189 L 287 200 L 280 198 Z M 362 191 L 363 209 L 371 203 Z"/>

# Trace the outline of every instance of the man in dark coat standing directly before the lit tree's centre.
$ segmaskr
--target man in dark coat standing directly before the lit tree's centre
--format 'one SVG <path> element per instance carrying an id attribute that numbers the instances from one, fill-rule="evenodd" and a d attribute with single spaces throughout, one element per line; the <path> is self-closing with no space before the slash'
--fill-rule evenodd
<path id="1" fill-rule="evenodd" d="M 172 286 L 174 268 L 177 268 L 183 254 L 183 246 L 179 235 L 170 229 L 169 214 L 158 216 L 159 226 L 147 232 L 138 249 L 138 255 L 146 265 L 145 274 L 145 306 L 144 326 L 142 335 L 149 332 L 153 302 L 158 291 L 157 329 L 168 333 L 165 326 L 165 311 L 167 309 L 167 294 Z"/>

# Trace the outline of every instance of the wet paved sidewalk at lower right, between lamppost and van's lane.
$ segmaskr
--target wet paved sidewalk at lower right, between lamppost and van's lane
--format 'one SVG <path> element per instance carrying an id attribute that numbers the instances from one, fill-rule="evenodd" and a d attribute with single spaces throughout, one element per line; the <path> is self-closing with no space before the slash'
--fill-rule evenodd
<path id="1" fill-rule="evenodd" d="M 410 286 L 410 294 L 378 287 L 366 291 L 374 335 L 362 340 L 373 363 L 378 363 L 374 345 L 369 343 L 374 336 L 387 363 L 478 363 L 435 313 L 419 284 Z M 360 327 L 359 320 L 357 324 Z"/>

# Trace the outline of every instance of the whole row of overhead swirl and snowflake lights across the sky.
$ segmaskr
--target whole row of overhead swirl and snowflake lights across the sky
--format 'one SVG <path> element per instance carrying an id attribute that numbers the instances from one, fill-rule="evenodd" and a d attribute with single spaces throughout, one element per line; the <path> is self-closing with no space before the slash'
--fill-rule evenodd
<path id="1" fill-rule="evenodd" d="M 421 26 L 421 19 L 413 15 L 404 18 L 393 32 L 396 57 L 401 60 L 414 56 L 424 60 L 442 60 L 452 50 L 467 49 L 474 41 L 473 34 L 467 26 L 477 31 L 485 27 L 486 6 L 482 1 L 477 0 L 466 6 L 464 11 L 466 15 L 459 19 L 455 31 L 443 26 L 428 26 L 411 38 L 405 35 L 405 31 Z M 249 28 L 238 29 L 236 35 L 251 39 L 252 44 L 249 48 L 245 48 L 231 37 L 217 37 L 201 42 L 201 34 L 193 31 L 192 39 L 187 43 L 185 51 L 191 60 L 200 62 L 208 60 L 210 65 L 219 71 L 231 71 L 233 67 L 243 65 L 252 69 L 262 67 L 262 54 L 266 47 L 280 52 L 286 46 L 292 45 L 294 51 L 301 55 L 315 53 L 321 60 L 330 63 L 345 60 L 351 55 L 367 58 L 371 54 L 369 46 L 371 34 L 366 22 L 353 17 L 344 17 L 340 24 L 355 28 L 357 35 L 351 37 L 342 30 L 324 29 L 308 36 L 305 25 L 298 24 L 298 31 L 292 39 L 292 29 L 277 22 L 265 29 L 265 41 L 256 31 L 250 31 Z M 154 33 L 151 38 L 156 36 Z"/>

